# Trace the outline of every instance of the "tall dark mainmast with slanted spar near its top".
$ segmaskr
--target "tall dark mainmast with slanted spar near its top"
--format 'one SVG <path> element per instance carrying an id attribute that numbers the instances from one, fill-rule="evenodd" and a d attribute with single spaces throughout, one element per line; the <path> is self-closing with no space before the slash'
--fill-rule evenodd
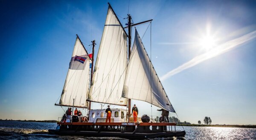
<path id="1" fill-rule="evenodd" d="M 125 28 L 128 28 L 128 48 L 129 48 L 129 52 L 128 52 L 128 59 L 130 60 L 130 55 L 131 55 L 131 27 L 135 26 L 135 25 L 140 25 L 143 24 L 145 22 L 151 22 L 152 20 L 147 20 L 147 21 L 143 21 L 143 22 L 139 22 L 139 23 L 131 23 L 131 15 L 128 14 L 128 23 L 126 25 L 128 25 Z M 131 114 L 131 99 L 128 99 L 128 122 L 130 122 L 130 114 Z"/>

